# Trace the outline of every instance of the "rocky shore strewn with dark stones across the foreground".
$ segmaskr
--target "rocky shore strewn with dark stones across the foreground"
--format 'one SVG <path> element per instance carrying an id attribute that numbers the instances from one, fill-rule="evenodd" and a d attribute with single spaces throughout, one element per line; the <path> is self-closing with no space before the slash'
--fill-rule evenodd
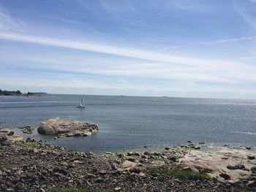
<path id="1" fill-rule="evenodd" d="M 253 191 L 256 185 L 253 175 L 236 182 L 228 178 L 219 180 L 219 177 L 209 177 L 208 169 L 191 164 L 195 158 L 200 164 L 212 161 L 219 151 L 170 147 L 163 152 L 95 154 L 67 151 L 34 139 L 24 140 L 15 137 L 12 131 L 7 131 L 5 136 L 1 134 L 0 139 L 0 187 L 3 191 L 58 191 L 59 186 L 62 190 L 83 188 L 83 191 Z M 255 164 L 255 153 L 238 151 L 243 152 L 242 158 L 246 159 L 250 153 L 253 158 L 250 161 Z M 248 164 L 244 166 L 230 169 L 228 176 L 233 178 L 237 172 L 247 172 L 242 169 Z"/>

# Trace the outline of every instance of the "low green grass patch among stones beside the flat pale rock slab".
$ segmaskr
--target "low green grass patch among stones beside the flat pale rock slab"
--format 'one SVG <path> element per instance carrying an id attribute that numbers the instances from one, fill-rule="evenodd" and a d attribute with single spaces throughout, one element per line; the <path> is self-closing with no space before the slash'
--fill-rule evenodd
<path id="1" fill-rule="evenodd" d="M 191 170 L 179 170 L 169 168 L 151 168 L 148 169 L 151 174 L 159 174 L 159 181 L 163 182 L 166 176 L 177 177 L 181 180 L 210 180 L 211 177 L 206 173 L 192 172 Z"/>

